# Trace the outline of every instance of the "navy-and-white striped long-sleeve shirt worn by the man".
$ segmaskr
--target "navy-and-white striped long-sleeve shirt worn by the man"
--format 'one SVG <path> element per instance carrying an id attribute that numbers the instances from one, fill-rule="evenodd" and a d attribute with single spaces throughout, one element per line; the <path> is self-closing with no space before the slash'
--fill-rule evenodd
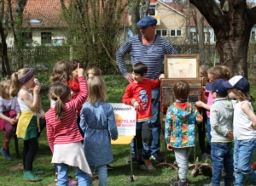
<path id="1" fill-rule="evenodd" d="M 157 79 L 162 70 L 165 54 L 177 54 L 172 45 L 162 37 L 155 37 L 152 44 L 145 45 L 142 42 L 142 35 L 131 37 L 116 53 L 116 60 L 119 70 L 123 76 L 127 76 L 130 72 L 126 69 L 125 54 L 131 54 L 131 65 L 138 62 L 148 66 L 148 72 L 145 78 Z"/>

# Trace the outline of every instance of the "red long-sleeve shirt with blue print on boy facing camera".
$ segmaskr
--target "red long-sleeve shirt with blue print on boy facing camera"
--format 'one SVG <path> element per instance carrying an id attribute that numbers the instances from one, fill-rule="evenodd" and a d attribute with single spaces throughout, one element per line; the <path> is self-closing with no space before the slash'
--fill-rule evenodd
<path id="1" fill-rule="evenodd" d="M 152 89 L 160 86 L 160 81 L 143 79 L 143 82 L 131 82 L 125 90 L 122 98 L 124 104 L 131 104 L 137 101 L 140 110 L 137 110 L 137 122 L 148 121 L 152 117 L 151 99 Z"/>

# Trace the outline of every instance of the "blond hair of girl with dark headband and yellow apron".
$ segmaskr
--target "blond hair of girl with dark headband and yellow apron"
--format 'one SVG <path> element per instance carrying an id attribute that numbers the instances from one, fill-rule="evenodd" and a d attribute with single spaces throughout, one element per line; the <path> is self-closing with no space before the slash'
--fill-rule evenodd
<path id="1" fill-rule="evenodd" d="M 20 90 L 22 84 L 19 82 L 19 79 L 25 76 L 29 70 L 29 68 L 24 68 L 12 74 L 9 86 L 9 95 L 11 98 L 15 97 Z"/>

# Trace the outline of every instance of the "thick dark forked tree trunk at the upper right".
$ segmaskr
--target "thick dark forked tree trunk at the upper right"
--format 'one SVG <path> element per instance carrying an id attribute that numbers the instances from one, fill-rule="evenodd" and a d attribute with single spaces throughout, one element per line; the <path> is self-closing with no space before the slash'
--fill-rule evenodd
<path id="1" fill-rule="evenodd" d="M 214 30 L 220 64 L 227 65 L 232 75 L 247 77 L 247 50 L 256 24 L 256 7 L 248 8 L 246 0 L 219 0 L 220 4 L 214 0 L 189 1 Z"/>

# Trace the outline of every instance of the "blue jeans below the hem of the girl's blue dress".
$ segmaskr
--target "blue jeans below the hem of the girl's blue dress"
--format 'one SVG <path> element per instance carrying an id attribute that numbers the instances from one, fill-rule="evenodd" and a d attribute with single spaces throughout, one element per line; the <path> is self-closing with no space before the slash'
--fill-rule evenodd
<path id="1" fill-rule="evenodd" d="M 95 172 L 96 169 L 98 170 L 99 186 L 108 186 L 108 168 L 107 168 L 107 165 L 104 165 L 104 166 L 90 166 L 90 171 L 91 172 Z M 92 186 L 92 178 L 89 175 L 87 175 L 86 183 L 87 183 L 86 185 Z"/>

